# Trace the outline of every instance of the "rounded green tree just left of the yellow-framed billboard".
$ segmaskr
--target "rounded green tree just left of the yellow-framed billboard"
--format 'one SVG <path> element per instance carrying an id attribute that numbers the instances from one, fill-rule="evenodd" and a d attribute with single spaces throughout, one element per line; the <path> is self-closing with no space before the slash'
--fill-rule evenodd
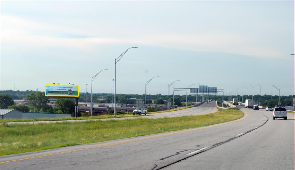
<path id="1" fill-rule="evenodd" d="M 49 98 L 44 95 L 44 92 L 37 91 L 36 93 L 30 93 L 26 96 L 26 102 L 37 111 L 46 107 L 49 102 Z"/>

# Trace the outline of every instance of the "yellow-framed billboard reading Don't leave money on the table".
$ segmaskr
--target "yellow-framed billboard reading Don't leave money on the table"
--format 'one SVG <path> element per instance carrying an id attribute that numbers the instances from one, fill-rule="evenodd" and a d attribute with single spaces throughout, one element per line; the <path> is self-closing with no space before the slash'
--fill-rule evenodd
<path id="1" fill-rule="evenodd" d="M 45 96 L 79 97 L 79 85 L 45 85 Z"/>

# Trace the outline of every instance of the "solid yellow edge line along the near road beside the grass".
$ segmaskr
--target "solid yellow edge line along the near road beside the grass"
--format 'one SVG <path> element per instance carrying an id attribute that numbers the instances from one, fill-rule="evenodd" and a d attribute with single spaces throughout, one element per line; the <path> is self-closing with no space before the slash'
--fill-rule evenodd
<path id="1" fill-rule="evenodd" d="M 197 131 L 197 130 L 201 130 L 201 129 L 208 129 L 208 128 L 217 127 L 217 126 L 221 126 L 221 125 L 225 125 L 225 124 L 231 124 L 231 123 L 235 123 L 235 122 L 240 122 L 242 120 L 247 119 L 248 117 L 249 117 L 249 114 L 247 113 L 247 116 L 244 117 L 243 119 L 236 120 L 236 121 L 234 120 L 234 121 L 231 121 L 231 122 L 228 122 L 228 123 L 221 123 L 221 124 L 209 125 L 209 127 L 203 127 L 203 128 L 198 128 L 198 129 L 194 128 L 194 129 L 189 129 L 189 130 L 181 130 L 181 132 L 177 132 L 176 131 L 176 132 L 170 133 L 170 134 L 163 134 L 163 135 L 157 135 L 157 136 L 152 136 L 152 137 L 146 137 L 146 138 L 143 138 L 143 139 L 135 139 L 135 140 L 118 142 L 118 143 L 112 143 L 112 144 L 107 144 L 107 145 L 94 146 L 94 147 L 90 147 L 90 148 L 69 150 L 69 151 L 65 151 L 65 152 L 51 153 L 51 154 L 46 154 L 46 155 L 41 155 L 41 156 L 33 156 L 33 157 L 29 157 L 29 158 L 15 159 L 15 160 L 10 160 L 10 161 L 0 162 L 0 164 L 1 163 L 7 163 L 7 162 L 14 162 L 14 161 L 23 161 L 23 160 L 27 160 L 27 159 L 33 159 L 33 158 L 41 158 L 41 157 L 44 157 L 44 156 L 58 155 L 58 154 L 62 154 L 62 153 L 75 152 L 75 151 L 79 151 L 79 150 L 86 150 L 86 149 L 93 149 L 93 148 L 101 148 L 101 147 L 106 147 L 106 146 L 119 145 L 119 144 L 123 144 L 123 143 L 130 143 L 130 142 L 136 142 L 136 141 L 141 141 L 141 140 L 153 139 L 153 138 L 158 138 L 158 137 L 171 136 L 171 135 L 176 135 L 176 134 L 181 134 L 181 133 L 187 133 L 187 132 L 193 132 L 193 131 Z"/>

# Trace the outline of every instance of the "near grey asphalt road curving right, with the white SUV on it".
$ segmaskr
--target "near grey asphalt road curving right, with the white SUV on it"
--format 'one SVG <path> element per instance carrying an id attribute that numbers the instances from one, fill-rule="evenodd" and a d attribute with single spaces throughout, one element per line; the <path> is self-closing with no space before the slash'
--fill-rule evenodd
<path id="1" fill-rule="evenodd" d="M 1 156 L 0 169 L 294 169 L 294 114 L 242 110 L 207 127 Z"/>

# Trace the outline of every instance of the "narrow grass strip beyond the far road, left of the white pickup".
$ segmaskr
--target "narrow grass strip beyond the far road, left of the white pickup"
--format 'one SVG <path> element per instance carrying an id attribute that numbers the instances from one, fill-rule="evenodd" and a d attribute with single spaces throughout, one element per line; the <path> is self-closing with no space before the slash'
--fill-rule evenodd
<path id="1" fill-rule="evenodd" d="M 133 114 L 117 114 L 116 118 L 120 117 L 138 117 L 138 116 L 151 116 L 151 115 L 133 115 Z M 87 117 L 60 117 L 60 118 L 36 118 L 36 119 L 2 119 L 0 123 L 5 122 L 33 122 L 33 121 L 53 121 L 53 120 L 82 120 L 82 119 L 109 119 L 114 118 L 114 115 L 101 115 L 101 116 L 87 116 Z"/>

